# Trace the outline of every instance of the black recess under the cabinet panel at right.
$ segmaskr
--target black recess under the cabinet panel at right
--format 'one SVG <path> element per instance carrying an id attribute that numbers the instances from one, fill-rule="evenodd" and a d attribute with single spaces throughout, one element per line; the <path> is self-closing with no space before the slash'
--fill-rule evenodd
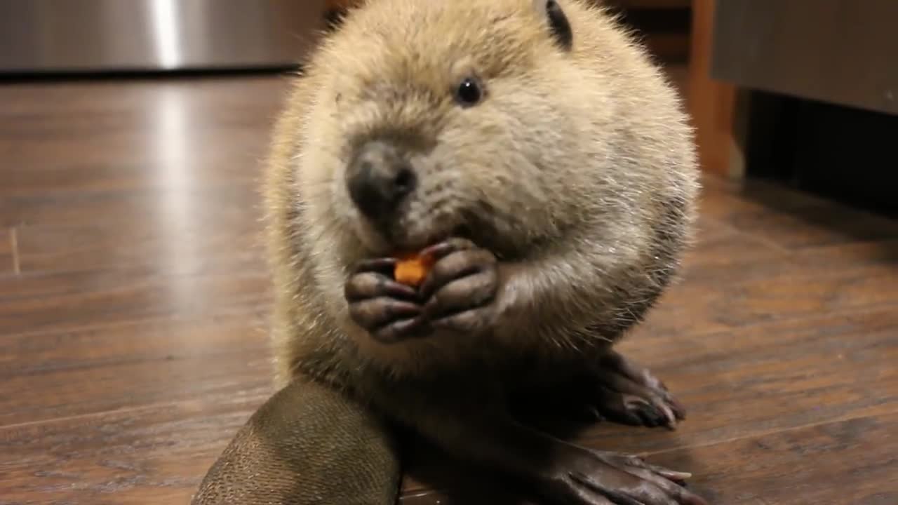
<path id="1" fill-rule="evenodd" d="M 898 116 L 754 92 L 746 170 L 898 217 Z"/>

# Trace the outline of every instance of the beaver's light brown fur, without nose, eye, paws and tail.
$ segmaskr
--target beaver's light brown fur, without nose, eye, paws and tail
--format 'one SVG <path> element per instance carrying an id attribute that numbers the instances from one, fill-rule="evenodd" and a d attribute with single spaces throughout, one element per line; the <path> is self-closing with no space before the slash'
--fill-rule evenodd
<path id="1" fill-rule="evenodd" d="M 674 89 L 598 7 L 560 3 L 565 52 L 532 4 L 372 0 L 296 79 L 265 182 L 279 385 L 315 377 L 451 440 L 455 416 L 514 381 L 506 370 L 594 361 L 674 278 L 698 190 Z M 452 93 L 468 72 L 486 98 L 465 109 Z M 399 244 L 489 230 L 471 239 L 511 272 L 495 330 L 383 344 L 350 321 L 348 269 L 392 248 L 343 178 L 374 132 L 419 171 Z"/>

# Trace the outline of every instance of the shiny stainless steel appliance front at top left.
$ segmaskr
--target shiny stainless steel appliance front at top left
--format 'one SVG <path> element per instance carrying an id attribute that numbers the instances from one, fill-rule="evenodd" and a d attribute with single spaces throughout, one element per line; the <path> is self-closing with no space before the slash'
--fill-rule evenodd
<path id="1" fill-rule="evenodd" d="M 325 0 L 0 0 L 0 72 L 292 66 Z"/>

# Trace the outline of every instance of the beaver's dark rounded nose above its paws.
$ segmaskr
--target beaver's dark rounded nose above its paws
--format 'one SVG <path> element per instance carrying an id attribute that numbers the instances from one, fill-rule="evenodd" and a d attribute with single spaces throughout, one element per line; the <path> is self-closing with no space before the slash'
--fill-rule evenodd
<path id="1" fill-rule="evenodd" d="M 395 210 L 416 183 L 411 164 L 395 147 L 380 141 L 362 146 L 347 170 L 349 196 L 367 217 Z"/>

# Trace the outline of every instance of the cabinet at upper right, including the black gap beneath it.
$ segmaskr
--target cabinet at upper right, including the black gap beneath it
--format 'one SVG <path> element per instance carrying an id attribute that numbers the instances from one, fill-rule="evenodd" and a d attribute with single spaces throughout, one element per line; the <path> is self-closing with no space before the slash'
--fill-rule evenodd
<path id="1" fill-rule="evenodd" d="M 898 213 L 898 2 L 694 0 L 702 166 Z"/>

